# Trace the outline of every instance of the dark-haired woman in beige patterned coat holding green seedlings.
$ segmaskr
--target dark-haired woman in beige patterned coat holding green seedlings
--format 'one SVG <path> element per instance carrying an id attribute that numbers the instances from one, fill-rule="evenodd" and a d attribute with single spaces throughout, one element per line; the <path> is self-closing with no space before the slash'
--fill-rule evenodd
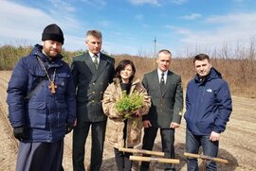
<path id="1" fill-rule="evenodd" d="M 114 146 L 116 162 L 119 171 L 132 169 L 129 160 L 131 153 L 119 151 L 119 147 L 133 147 L 141 140 L 142 115 L 147 114 L 151 107 L 151 98 L 139 79 L 135 78 L 136 68 L 131 60 L 121 60 L 116 68 L 114 82 L 110 84 L 103 95 L 102 108 L 108 116 L 107 129 L 111 132 L 107 141 Z M 143 106 L 138 109 L 133 118 L 125 119 L 116 110 L 117 101 L 123 96 L 140 94 L 144 97 Z"/>

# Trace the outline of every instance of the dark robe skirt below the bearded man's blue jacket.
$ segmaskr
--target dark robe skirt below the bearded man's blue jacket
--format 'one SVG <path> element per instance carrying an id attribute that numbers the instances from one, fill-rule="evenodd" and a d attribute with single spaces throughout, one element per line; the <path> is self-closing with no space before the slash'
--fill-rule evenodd
<path id="1" fill-rule="evenodd" d="M 20 143 L 16 171 L 63 171 L 64 140 Z"/>

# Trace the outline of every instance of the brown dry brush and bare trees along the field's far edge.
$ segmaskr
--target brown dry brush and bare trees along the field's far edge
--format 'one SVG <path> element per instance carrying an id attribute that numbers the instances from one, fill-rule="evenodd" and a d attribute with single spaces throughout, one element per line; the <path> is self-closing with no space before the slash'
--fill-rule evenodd
<path id="1" fill-rule="evenodd" d="M 32 50 L 32 46 L 4 45 L 0 47 L 0 70 L 12 70 L 16 62 L 22 57 L 27 56 Z M 70 64 L 72 57 L 82 54 L 85 51 L 74 52 L 63 49 L 64 60 Z M 219 70 L 223 77 L 229 82 L 232 94 L 256 97 L 256 49 L 254 43 L 248 48 L 237 48 L 229 52 L 228 48 L 215 50 L 213 52 L 192 52 L 188 51 L 186 57 L 175 57 L 171 64 L 171 70 L 182 76 L 183 86 L 186 88 L 187 82 L 194 76 L 192 57 L 199 53 L 206 53 L 210 56 L 213 67 Z M 155 59 L 144 58 L 130 55 L 111 55 L 119 60 L 129 59 L 135 62 L 137 77 L 143 75 L 157 67 Z"/>

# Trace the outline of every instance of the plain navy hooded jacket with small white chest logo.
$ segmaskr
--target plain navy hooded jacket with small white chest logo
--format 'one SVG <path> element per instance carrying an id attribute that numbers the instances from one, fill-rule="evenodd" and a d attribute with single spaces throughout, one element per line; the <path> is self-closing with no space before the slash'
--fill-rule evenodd
<path id="1" fill-rule="evenodd" d="M 195 76 L 187 87 L 185 119 L 194 135 L 210 135 L 225 130 L 232 111 L 228 83 L 214 68 L 202 82 Z"/>

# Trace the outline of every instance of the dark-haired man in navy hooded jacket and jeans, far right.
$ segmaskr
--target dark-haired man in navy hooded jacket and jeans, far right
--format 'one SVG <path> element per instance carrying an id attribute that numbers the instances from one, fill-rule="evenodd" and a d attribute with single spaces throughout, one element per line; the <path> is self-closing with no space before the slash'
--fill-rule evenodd
<path id="1" fill-rule="evenodd" d="M 188 83 L 186 94 L 186 151 L 197 154 L 202 145 L 204 155 L 217 157 L 220 134 L 229 122 L 232 101 L 228 83 L 211 67 L 208 55 L 194 57 L 196 76 Z M 188 170 L 198 170 L 196 159 L 188 158 Z M 217 170 L 215 162 L 207 170 Z"/>

